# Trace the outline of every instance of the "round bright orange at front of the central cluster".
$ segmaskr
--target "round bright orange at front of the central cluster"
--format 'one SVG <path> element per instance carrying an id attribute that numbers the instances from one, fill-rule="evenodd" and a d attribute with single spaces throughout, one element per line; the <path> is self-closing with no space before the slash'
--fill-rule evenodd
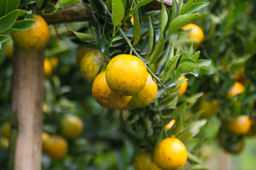
<path id="1" fill-rule="evenodd" d="M 147 82 L 146 66 L 138 57 L 121 54 L 114 57 L 106 67 L 106 82 L 118 94 L 138 94 Z"/>

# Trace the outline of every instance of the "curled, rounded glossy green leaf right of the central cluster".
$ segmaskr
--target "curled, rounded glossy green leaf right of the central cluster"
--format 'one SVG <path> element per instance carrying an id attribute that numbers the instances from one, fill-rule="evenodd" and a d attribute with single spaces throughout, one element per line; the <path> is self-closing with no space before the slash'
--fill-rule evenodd
<path id="1" fill-rule="evenodd" d="M 176 69 L 176 77 L 180 77 L 184 74 L 199 75 L 199 65 L 191 58 L 184 58 L 180 61 L 179 66 Z"/>

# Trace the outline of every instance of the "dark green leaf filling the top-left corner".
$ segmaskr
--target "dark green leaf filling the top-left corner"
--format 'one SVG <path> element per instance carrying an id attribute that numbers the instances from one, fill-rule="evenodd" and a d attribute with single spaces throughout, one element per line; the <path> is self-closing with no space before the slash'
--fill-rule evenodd
<path id="1" fill-rule="evenodd" d="M 1 0 L 0 1 L 0 18 L 13 12 L 19 6 L 20 0 Z M 1 25 L 1 24 L 0 24 Z M 1 29 L 0 29 L 1 30 Z"/>

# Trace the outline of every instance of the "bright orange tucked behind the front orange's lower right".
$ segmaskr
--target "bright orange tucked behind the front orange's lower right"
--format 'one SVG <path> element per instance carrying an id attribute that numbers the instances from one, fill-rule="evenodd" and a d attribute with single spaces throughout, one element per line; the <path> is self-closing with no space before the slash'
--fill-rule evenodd
<path id="1" fill-rule="evenodd" d="M 131 108 L 143 108 L 151 104 L 158 92 L 158 85 L 152 79 L 150 73 L 147 73 L 147 83 L 141 92 L 133 95 L 128 103 Z"/>

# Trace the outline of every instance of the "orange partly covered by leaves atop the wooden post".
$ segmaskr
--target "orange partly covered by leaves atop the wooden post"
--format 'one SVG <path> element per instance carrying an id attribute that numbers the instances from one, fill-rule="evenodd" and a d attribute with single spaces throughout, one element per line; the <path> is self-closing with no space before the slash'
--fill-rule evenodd
<path id="1" fill-rule="evenodd" d="M 24 50 L 39 50 L 44 48 L 49 41 L 49 27 L 40 15 L 33 14 L 36 21 L 30 29 L 12 32 L 14 43 Z"/>

